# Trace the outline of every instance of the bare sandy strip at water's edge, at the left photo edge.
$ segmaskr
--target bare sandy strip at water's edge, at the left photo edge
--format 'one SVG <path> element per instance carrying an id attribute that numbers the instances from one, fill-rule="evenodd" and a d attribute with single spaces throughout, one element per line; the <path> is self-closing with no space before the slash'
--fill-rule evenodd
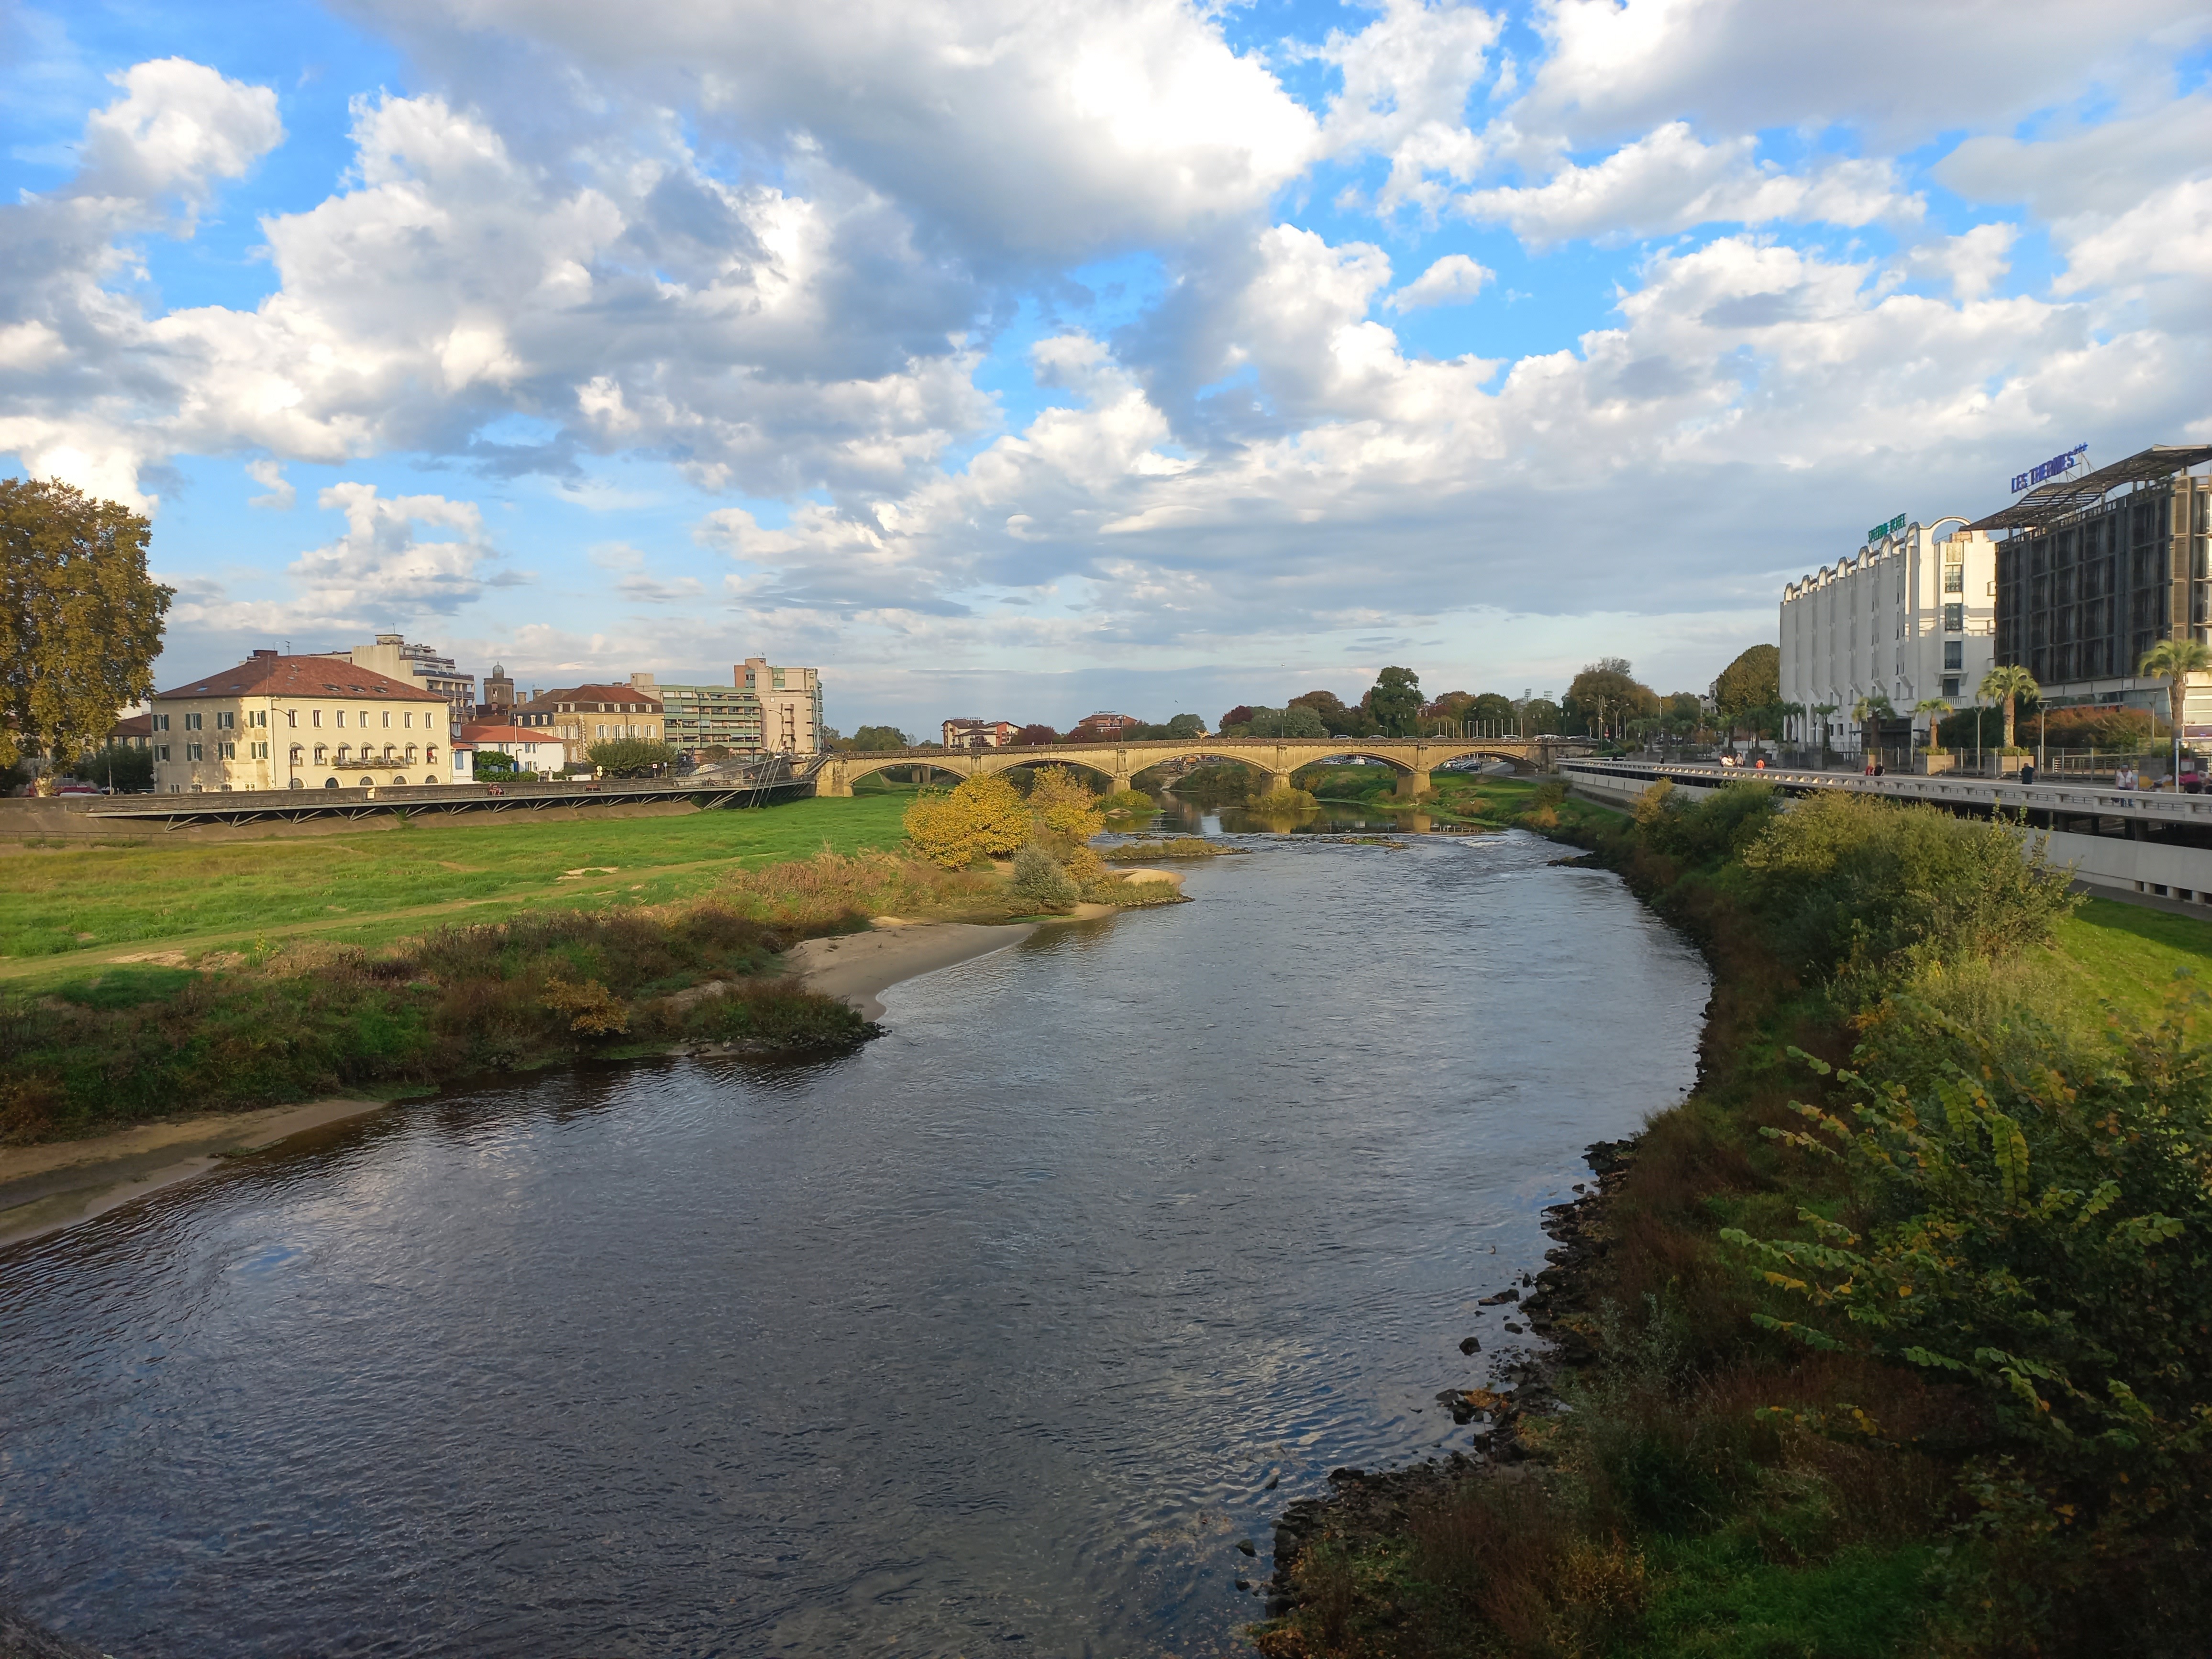
<path id="1" fill-rule="evenodd" d="M 319 1099 L 254 1113 L 179 1117 L 113 1135 L 0 1148 L 0 1245 L 91 1221 L 164 1186 L 206 1175 L 226 1157 L 383 1110 L 380 1099 Z"/>

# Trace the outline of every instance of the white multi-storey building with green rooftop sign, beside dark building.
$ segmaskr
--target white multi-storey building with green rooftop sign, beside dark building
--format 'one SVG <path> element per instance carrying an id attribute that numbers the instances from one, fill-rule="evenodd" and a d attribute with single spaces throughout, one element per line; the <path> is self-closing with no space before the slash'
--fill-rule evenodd
<path id="1" fill-rule="evenodd" d="M 1827 710 L 1798 721 L 1801 739 L 1818 741 L 1825 723 L 1854 748 L 1863 697 L 1887 697 L 1900 719 L 1924 699 L 1973 703 L 1995 661 L 1997 549 L 1964 524 L 1898 513 L 1854 555 L 1783 588 L 1783 701 Z"/>

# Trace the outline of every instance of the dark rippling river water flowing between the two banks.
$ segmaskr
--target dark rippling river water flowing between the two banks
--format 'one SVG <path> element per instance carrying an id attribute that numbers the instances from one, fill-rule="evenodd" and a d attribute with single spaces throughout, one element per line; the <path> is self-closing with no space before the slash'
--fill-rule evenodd
<path id="1" fill-rule="evenodd" d="M 0 1252 L 0 1595 L 126 1659 L 1228 1652 L 1692 1082 L 1703 964 L 1610 874 L 1407 841 Z"/>

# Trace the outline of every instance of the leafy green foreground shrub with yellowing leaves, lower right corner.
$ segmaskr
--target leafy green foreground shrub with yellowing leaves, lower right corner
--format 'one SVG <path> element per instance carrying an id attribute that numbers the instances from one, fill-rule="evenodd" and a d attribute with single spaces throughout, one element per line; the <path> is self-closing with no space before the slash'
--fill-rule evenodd
<path id="1" fill-rule="evenodd" d="M 1978 1528 L 2077 1599 L 2112 1564 L 2190 1571 L 2212 1544 L 2203 1006 L 2183 989 L 2099 1055 L 1896 1002 L 1834 1077 L 1847 1104 L 1767 1130 L 1838 1164 L 1867 1221 L 1801 1208 L 1801 1237 L 1723 1234 L 1798 1303 L 1761 1314 L 1770 1329 L 1973 1396 L 1993 1436 L 1969 1480 Z"/>

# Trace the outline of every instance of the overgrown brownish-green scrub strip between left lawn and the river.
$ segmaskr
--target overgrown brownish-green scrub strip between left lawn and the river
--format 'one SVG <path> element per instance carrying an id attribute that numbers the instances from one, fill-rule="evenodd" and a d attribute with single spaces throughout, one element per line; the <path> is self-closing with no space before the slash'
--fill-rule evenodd
<path id="1" fill-rule="evenodd" d="M 889 854 L 726 865 L 672 905 L 544 907 L 383 947 L 321 938 L 131 962 L 0 998 L 0 1141 L 86 1135 L 177 1110 L 405 1093 L 597 1053 L 858 1042 L 843 1002 L 783 978 L 801 938 L 872 916 L 1006 920 L 991 874 Z"/>

